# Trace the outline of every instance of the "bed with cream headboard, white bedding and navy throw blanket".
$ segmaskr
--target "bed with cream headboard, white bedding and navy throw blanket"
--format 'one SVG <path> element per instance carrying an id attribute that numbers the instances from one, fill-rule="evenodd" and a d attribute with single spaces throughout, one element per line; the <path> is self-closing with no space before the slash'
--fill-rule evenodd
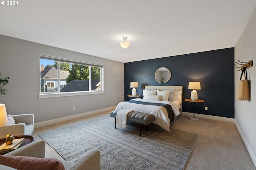
<path id="1" fill-rule="evenodd" d="M 156 120 L 148 128 L 170 131 L 182 109 L 182 86 L 152 86 L 143 89 L 143 99 L 132 99 L 118 103 L 116 109 L 131 109 L 155 115 Z M 135 123 L 128 122 L 136 125 Z"/>

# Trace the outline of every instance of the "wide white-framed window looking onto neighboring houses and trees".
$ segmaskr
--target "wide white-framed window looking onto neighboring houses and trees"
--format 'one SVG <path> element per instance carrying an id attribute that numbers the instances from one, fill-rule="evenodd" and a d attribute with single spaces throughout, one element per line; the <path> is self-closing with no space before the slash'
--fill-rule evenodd
<path id="1" fill-rule="evenodd" d="M 102 92 L 102 73 L 99 64 L 40 55 L 40 95 Z"/>

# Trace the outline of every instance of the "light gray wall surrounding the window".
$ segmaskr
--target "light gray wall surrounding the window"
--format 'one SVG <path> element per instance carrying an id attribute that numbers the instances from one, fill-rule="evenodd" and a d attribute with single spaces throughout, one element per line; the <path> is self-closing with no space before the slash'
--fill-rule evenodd
<path id="1" fill-rule="evenodd" d="M 102 64 L 104 93 L 39 99 L 40 54 Z M 0 35 L 0 72 L 2 77 L 10 77 L 4 86 L 8 91 L 0 95 L 0 103 L 11 115 L 34 113 L 35 123 L 113 107 L 124 101 L 124 63 L 100 57 Z"/>

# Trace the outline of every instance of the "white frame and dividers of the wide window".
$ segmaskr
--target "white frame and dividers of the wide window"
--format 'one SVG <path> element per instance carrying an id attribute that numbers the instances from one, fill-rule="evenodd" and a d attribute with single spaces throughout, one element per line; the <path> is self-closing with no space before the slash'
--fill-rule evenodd
<path id="1" fill-rule="evenodd" d="M 51 97 L 65 97 L 65 96 L 91 95 L 91 94 L 104 93 L 103 65 L 84 62 L 84 61 L 78 61 L 78 60 L 73 60 L 73 59 L 66 59 L 66 58 L 61 58 L 61 57 L 53 57 L 53 56 L 42 55 L 42 54 L 40 54 L 39 60 L 40 59 L 50 59 L 50 60 L 58 61 L 58 68 L 60 68 L 60 62 L 67 62 L 67 63 L 73 63 L 73 64 L 79 64 L 79 65 L 88 65 L 88 66 L 92 66 L 92 67 L 100 67 L 100 90 L 91 90 L 91 77 L 90 76 L 89 76 L 89 91 L 60 92 L 60 88 L 58 87 L 58 91 L 56 91 L 56 92 L 41 92 L 41 83 L 39 83 L 40 84 L 39 95 L 38 95 L 39 99 L 51 98 Z M 39 67 L 40 67 L 40 64 L 39 64 Z M 91 70 L 91 67 L 89 67 L 89 75 L 91 72 L 90 70 Z M 58 69 L 58 84 L 60 84 L 59 71 L 60 70 Z M 39 71 L 39 73 L 40 73 L 40 71 Z M 39 77 L 41 78 L 41 75 L 39 75 Z M 54 82 L 54 87 L 55 87 L 55 82 Z"/>

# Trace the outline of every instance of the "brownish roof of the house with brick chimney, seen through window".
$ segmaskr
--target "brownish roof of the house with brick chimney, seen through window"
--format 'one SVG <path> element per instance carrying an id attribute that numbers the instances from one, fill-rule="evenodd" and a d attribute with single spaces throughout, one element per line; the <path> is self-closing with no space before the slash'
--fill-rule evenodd
<path id="1" fill-rule="evenodd" d="M 69 74 L 69 71 L 60 70 L 60 79 L 67 79 Z M 58 79 L 58 69 L 56 69 L 54 66 L 48 67 L 47 69 L 41 72 L 41 79 L 42 78 Z"/>

